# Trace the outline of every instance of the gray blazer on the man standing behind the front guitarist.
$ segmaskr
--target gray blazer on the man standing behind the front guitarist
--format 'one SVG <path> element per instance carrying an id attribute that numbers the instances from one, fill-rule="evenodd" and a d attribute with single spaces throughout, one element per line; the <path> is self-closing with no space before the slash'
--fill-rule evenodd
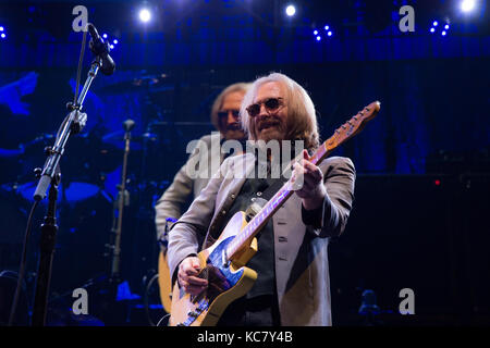
<path id="1" fill-rule="evenodd" d="M 211 175 L 208 174 L 212 174 L 207 173 L 212 167 L 212 165 L 210 164 L 210 161 L 212 160 L 211 144 L 219 145 L 221 135 L 219 132 L 213 132 L 210 135 L 205 135 L 204 137 L 201 137 L 198 141 L 203 141 L 203 145 L 208 149 L 207 161 L 209 162 L 209 165 L 201 165 L 200 167 L 197 167 L 196 171 L 199 172 L 199 175 L 197 175 L 197 177 L 192 177 L 189 175 L 191 166 L 197 162 L 196 160 L 199 157 L 199 146 L 196 146 L 188 157 L 187 162 L 175 174 L 172 185 L 167 188 L 167 190 L 157 201 L 157 204 L 155 206 L 155 223 L 157 225 L 158 239 L 160 239 L 164 234 L 167 219 L 181 217 L 183 206 L 191 198 L 191 195 L 193 199 L 196 198 L 208 184 L 211 177 Z M 218 158 L 220 160 L 218 165 L 220 165 L 223 159 L 223 154 L 220 153 Z"/>

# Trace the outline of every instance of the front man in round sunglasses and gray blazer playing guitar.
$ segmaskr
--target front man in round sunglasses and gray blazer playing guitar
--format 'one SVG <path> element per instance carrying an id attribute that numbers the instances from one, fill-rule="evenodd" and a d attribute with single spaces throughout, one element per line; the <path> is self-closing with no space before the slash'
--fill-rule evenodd
<path id="1" fill-rule="evenodd" d="M 309 161 L 319 146 L 315 107 L 303 87 L 283 74 L 270 74 L 252 85 L 242 102 L 241 122 L 248 139 L 262 140 L 258 151 L 277 140 L 303 141 L 305 149 L 294 149 L 299 156 L 293 165 L 294 177 L 303 175 L 303 185 L 257 235 L 258 252 L 246 264 L 257 272 L 257 281 L 225 309 L 218 325 L 331 325 L 327 249 L 329 238 L 343 232 L 352 208 L 354 164 L 339 157 L 319 166 Z M 226 159 L 222 175 L 209 181 L 173 225 L 170 274 L 186 293 L 197 296 L 217 286 L 199 276 L 198 241 L 205 240 L 203 249 L 210 247 L 234 213 L 270 199 L 284 183 L 282 176 L 250 175 L 261 165 L 270 169 L 272 157 L 264 161 L 259 153 L 247 151 Z"/>

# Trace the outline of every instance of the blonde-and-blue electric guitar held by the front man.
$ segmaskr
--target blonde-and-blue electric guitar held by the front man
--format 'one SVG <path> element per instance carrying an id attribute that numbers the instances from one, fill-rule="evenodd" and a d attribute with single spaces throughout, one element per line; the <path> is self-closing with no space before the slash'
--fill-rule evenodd
<path id="1" fill-rule="evenodd" d="M 371 102 L 340 126 L 318 148 L 310 162 L 318 165 L 333 149 L 359 133 L 380 107 L 378 101 Z M 293 194 L 294 184 L 290 179 L 248 222 L 244 212 L 232 216 L 218 240 L 197 254 L 201 270 L 198 276 L 208 281 L 207 289 L 192 296 L 175 282 L 170 326 L 216 325 L 226 307 L 249 291 L 257 273 L 245 264 L 258 250 L 255 236 Z"/>

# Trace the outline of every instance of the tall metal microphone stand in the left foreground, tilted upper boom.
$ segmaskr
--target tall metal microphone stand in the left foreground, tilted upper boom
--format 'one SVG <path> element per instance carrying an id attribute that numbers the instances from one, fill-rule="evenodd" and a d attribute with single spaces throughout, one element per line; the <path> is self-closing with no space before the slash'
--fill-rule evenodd
<path id="1" fill-rule="evenodd" d="M 46 153 L 48 159 L 45 162 L 44 170 L 36 169 L 35 173 L 39 178 L 39 183 L 34 192 L 34 199 L 40 201 L 46 197 L 48 186 L 51 185 L 48 196 L 48 209 L 47 214 L 41 224 L 40 236 L 40 258 L 38 264 L 38 271 L 36 274 L 36 293 L 33 307 L 33 326 L 44 326 L 46 324 L 46 313 L 48 303 L 48 291 L 51 279 L 51 266 L 54 252 L 54 245 L 58 232 L 58 225 L 56 221 L 56 208 L 58 199 L 58 185 L 61 178 L 60 160 L 64 153 L 64 147 L 68 142 L 70 135 L 79 133 L 86 122 L 87 115 L 82 113 L 82 105 L 87 95 L 88 88 L 93 80 L 97 76 L 102 64 L 100 57 L 96 57 L 91 63 L 88 72 L 88 77 L 85 82 L 84 88 L 81 91 L 76 104 L 68 103 L 66 108 L 70 113 L 64 119 L 60 130 L 58 132 L 57 139 L 53 147 L 48 147 Z"/>

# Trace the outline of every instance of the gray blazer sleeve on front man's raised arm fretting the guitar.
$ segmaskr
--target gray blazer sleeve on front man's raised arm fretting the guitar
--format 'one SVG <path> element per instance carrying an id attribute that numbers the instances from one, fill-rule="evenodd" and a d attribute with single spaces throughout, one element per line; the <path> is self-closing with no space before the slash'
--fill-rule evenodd
<path id="1" fill-rule="evenodd" d="M 338 237 L 345 229 L 354 201 L 354 163 L 347 158 L 334 157 L 324 160 L 320 169 L 327 196 L 319 209 L 307 211 L 302 207 L 303 222 L 317 237 Z"/>

